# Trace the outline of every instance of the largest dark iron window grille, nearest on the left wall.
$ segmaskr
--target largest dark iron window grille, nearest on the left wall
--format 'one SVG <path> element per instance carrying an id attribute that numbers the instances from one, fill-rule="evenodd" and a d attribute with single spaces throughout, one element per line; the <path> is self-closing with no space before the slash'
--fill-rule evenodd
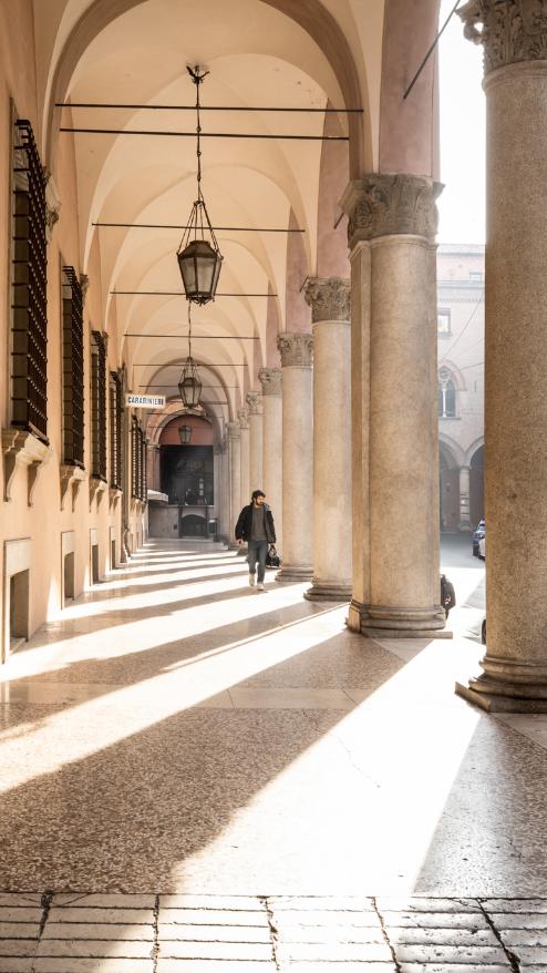
<path id="1" fill-rule="evenodd" d="M 30 122 L 13 139 L 12 423 L 48 442 L 45 176 Z"/>

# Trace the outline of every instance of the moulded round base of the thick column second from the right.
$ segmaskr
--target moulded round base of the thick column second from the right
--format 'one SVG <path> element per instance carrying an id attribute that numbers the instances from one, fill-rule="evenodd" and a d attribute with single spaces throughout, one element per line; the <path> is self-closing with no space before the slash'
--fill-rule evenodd
<path id="1" fill-rule="evenodd" d="M 368 638 L 452 638 L 441 605 L 395 608 L 351 601 L 348 628 Z"/>

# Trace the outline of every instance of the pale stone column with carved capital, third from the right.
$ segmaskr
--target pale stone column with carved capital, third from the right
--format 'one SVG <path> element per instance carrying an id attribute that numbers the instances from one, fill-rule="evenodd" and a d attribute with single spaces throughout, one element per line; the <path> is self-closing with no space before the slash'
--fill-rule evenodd
<path id="1" fill-rule="evenodd" d="M 350 281 L 311 278 L 313 581 L 309 601 L 351 598 Z"/>

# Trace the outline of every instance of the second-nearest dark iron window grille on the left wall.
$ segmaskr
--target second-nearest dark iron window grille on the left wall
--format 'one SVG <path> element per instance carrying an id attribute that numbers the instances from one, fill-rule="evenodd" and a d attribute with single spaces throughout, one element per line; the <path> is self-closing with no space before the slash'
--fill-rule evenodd
<path id="1" fill-rule="evenodd" d="M 74 267 L 63 267 L 62 299 L 64 462 L 83 467 L 83 297 Z"/>

